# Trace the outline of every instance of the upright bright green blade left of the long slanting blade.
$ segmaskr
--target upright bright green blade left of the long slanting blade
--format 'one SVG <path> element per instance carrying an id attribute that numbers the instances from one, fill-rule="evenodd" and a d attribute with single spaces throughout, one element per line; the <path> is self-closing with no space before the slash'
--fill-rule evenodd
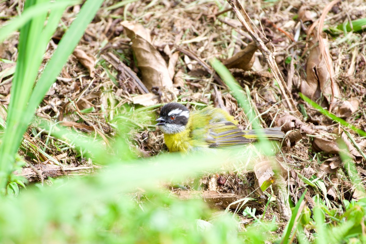
<path id="1" fill-rule="evenodd" d="M 4 141 L 0 147 L 0 188 L 4 189 L 7 183 L 7 175 L 12 167 L 11 162 L 18 150 L 27 121 L 26 106 L 41 65 L 42 57 L 49 40 L 40 40 L 44 30 L 47 12 L 37 11 L 35 6 L 44 6 L 48 0 L 29 0 L 25 3 L 25 12 L 33 10 L 37 15 L 28 21 L 21 29 L 18 43 L 18 61 L 12 81 L 11 98 L 7 116 L 7 129 L 5 129 Z M 62 10 L 63 11 L 63 10 Z M 12 22 L 14 23 L 14 22 Z M 53 30 L 53 32 L 55 29 Z"/>

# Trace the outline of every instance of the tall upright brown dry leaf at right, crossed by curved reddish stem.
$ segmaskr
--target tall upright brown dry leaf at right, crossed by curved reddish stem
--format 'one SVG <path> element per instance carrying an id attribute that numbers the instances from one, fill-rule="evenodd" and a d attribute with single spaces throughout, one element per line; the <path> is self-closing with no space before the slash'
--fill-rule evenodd
<path id="1" fill-rule="evenodd" d="M 332 101 L 332 90 L 335 100 L 340 95 L 339 86 L 334 83 L 331 87 L 330 76 L 334 75 L 332 59 L 329 53 L 328 38 L 323 39 L 326 57 L 322 55 L 322 50 L 318 44 L 319 38 L 317 31 L 313 31 L 314 38 L 310 41 L 310 53 L 306 63 L 306 82 L 301 83 L 300 91 L 313 101 L 317 101 L 321 95 L 324 95 L 325 100 L 321 106 L 328 107 Z M 326 67 L 325 59 L 330 64 L 330 74 Z"/>

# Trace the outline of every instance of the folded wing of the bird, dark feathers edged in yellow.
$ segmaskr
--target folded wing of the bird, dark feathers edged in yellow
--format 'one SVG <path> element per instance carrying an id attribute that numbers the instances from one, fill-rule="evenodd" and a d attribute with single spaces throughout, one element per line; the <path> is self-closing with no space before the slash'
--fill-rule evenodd
<path id="1" fill-rule="evenodd" d="M 252 141 L 245 137 L 245 132 L 230 121 L 210 123 L 210 126 L 206 137 L 209 147 L 234 147 Z"/>

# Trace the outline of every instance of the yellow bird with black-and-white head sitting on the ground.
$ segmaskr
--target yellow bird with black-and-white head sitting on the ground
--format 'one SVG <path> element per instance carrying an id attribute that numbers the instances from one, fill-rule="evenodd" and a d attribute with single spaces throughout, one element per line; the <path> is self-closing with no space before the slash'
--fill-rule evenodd
<path id="1" fill-rule="evenodd" d="M 242 130 L 238 120 L 212 105 L 190 112 L 184 105 L 170 102 L 161 108 L 156 121 L 169 152 L 207 152 L 242 146 L 257 139 L 258 132 L 268 139 L 282 140 L 285 136 L 280 127 Z"/>

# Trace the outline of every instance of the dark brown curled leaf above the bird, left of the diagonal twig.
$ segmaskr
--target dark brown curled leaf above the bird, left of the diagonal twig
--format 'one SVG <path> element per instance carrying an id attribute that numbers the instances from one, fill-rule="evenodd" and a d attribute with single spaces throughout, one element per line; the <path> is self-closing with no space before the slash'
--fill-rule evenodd
<path id="1" fill-rule="evenodd" d="M 235 53 L 231 58 L 223 61 L 227 68 L 238 68 L 242 70 L 250 70 L 255 60 L 255 51 L 257 46 L 251 42 L 240 52 Z"/>

